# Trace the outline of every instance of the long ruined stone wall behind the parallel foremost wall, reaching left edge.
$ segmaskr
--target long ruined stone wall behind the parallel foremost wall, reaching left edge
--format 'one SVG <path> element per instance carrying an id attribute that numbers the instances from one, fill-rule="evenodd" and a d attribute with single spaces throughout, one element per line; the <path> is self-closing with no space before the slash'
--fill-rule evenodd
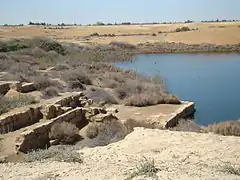
<path id="1" fill-rule="evenodd" d="M 85 98 L 86 99 L 86 98 Z M 82 106 L 82 93 L 75 93 L 68 96 L 57 98 L 48 104 L 35 105 L 34 107 L 22 108 L 13 113 L 6 113 L 0 117 L 0 134 L 5 134 L 20 128 L 39 122 L 40 119 L 52 119 L 73 108 Z"/>

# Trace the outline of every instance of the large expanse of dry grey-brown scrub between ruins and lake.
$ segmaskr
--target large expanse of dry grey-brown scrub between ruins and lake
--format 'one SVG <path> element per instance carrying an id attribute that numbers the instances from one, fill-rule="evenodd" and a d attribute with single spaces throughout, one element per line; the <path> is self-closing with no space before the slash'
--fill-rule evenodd
<path id="1" fill-rule="evenodd" d="M 9 73 L 11 80 L 34 82 L 46 98 L 57 96 L 58 89 L 63 92 L 86 90 L 93 100 L 111 104 L 141 107 L 180 103 L 167 92 L 159 77 L 141 76 L 111 64 L 131 59 L 137 49 L 135 45 L 111 42 L 82 47 L 39 37 L 13 41 L 25 44 L 26 48 L 1 52 L 1 71 Z"/>

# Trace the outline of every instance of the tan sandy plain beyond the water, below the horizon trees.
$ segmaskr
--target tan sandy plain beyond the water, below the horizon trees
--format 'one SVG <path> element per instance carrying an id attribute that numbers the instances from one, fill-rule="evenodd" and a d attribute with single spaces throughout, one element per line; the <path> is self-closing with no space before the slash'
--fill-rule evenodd
<path id="1" fill-rule="evenodd" d="M 176 28 L 188 26 L 196 31 L 176 33 Z M 159 31 L 166 32 L 158 34 Z M 84 36 L 98 34 L 137 34 L 156 33 L 157 36 L 122 36 L 122 37 L 95 37 L 83 40 Z M 46 36 L 60 41 L 79 44 L 109 43 L 124 41 L 132 44 L 144 42 L 183 42 L 187 44 L 213 43 L 236 44 L 240 43 L 240 22 L 219 23 L 190 23 L 190 24 L 159 24 L 159 25 L 131 25 L 131 26 L 78 26 L 64 27 L 64 29 L 44 29 L 41 26 L 3 27 L 0 26 L 0 38 L 19 38 Z"/>

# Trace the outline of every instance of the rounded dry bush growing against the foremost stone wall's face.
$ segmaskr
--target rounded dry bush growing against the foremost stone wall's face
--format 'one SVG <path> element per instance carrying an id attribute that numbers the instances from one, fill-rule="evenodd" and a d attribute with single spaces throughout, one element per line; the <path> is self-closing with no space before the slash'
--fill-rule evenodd
<path id="1" fill-rule="evenodd" d="M 77 126 L 67 122 L 53 125 L 49 137 L 52 140 L 56 140 L 58 144 L 74 144 L 80 140 Z"/>

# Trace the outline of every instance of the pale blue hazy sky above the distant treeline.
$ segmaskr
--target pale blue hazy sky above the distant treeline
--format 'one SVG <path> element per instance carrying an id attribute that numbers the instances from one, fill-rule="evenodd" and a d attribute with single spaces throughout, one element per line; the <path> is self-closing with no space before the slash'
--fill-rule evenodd
<path id="1" fill-rule="evenodd" d="M 0 0 L 0 24 L 240 19 L 240 0 Z"/>

